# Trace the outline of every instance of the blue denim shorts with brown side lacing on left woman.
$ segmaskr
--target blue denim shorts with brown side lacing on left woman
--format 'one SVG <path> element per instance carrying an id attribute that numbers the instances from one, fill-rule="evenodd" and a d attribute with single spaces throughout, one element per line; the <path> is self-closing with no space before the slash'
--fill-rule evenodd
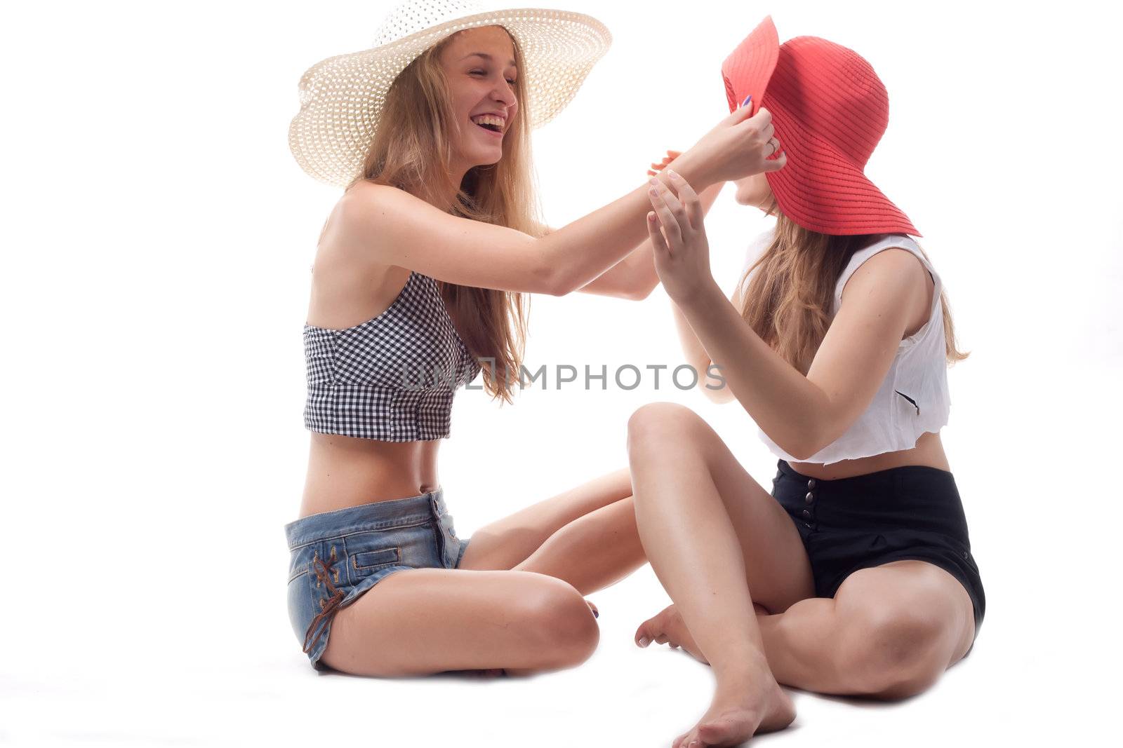
<path id="1" fill-rule="evenodd" d="M 456 569 L 467 539 L 456 537 L 441 489 L 301 517 L 289 539 L 289 620 L 316 669 L 341 608 L 404 569 Z"/>

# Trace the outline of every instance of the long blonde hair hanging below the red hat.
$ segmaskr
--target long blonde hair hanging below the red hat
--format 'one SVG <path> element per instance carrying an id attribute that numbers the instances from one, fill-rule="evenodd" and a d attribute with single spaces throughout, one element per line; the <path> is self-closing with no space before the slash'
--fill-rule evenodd
<path id="1" fill-rule="evenodd" d="M 741 277 L 741 316 L 760 338 L 804 376 L 831 324 L 834 286 L 868 236 L 837 237 L 804 229 L 784 215 L 773 197 L 776 216 L 772 242 Z M 928 259 L 928 252 L 921 253 Z M 756 269 L 748 288 L 745 283 Z M 969 353 L 956 347 L 955 324 L 946 289 L 940 290 L 947 361 L 955 364 Z"/>

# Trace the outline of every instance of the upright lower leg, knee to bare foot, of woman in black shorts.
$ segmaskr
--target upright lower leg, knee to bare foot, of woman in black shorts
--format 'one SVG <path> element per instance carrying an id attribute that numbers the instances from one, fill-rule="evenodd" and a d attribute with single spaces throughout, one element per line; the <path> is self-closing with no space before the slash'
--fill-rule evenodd
<path id="1" fill-rule="evenodd" d="M 629 422 L 628 438 L 640 539 L 718 678 L 710 709 L 675 744 L 684 747 L 734 745 L 795 719 L 768 668 L 712 453 L 691 438 L 697 421 L 678 406 L 646 406 Z"/>

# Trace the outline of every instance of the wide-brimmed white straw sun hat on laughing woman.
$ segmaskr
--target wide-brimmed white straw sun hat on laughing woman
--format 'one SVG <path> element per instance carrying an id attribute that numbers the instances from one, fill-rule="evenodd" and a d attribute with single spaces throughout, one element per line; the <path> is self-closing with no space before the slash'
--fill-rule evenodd
<path id="1" fill-rule="evenodd" d="M 328 57 L 300 79 L 300 112 L 289 126 L 289 148 L 308 174 L 337 186 L 358 176 L 374 139 L 390 84 L 421 53 L 466 28 L 502 26 L 522 52 L 530 126 L 565 109 L 612 35 L 584 13 L 509 9 L 474 0 L 411 0 L 386 17 L 374 47 Z"/>

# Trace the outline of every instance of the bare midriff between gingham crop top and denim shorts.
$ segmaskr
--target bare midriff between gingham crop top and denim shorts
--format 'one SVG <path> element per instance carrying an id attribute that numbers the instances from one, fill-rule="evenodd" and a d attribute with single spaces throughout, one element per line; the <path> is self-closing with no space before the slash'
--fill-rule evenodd
<path id="1" fill-rule="evenodd" d="M 311 432 L 300 516 L 436 490 L 439 446 L 439 438 L 380 442 Z"/>

